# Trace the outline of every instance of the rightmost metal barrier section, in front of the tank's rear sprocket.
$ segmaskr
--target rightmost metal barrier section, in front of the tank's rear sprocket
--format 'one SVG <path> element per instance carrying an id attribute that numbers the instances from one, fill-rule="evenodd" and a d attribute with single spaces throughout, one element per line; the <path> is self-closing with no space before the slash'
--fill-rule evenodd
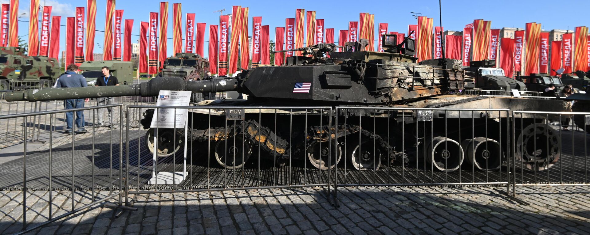
<path id="1" fill-rule="evenodd" d="M 590 183 L 590 112 L 513 111 L 512 120 L 513 194 L 516 186 Z M 560 126 L 550 127 L 545 120 L 558 121 Z"/>

